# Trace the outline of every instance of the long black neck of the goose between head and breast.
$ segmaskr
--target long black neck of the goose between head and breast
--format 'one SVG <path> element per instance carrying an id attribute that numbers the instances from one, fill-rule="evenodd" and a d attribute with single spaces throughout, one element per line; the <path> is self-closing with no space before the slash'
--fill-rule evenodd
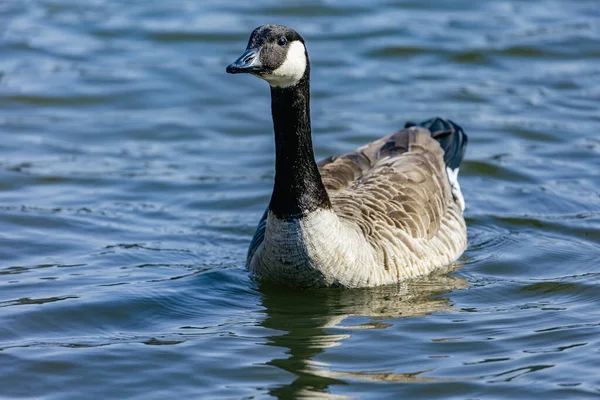
<path id="1" fill-rule="evenodd" d="M 308 71 L 295 86 L 271 87 L 276 160 L 269 210 L 278 218 L 331 208 L 312 148 L 309 92 Z"/>

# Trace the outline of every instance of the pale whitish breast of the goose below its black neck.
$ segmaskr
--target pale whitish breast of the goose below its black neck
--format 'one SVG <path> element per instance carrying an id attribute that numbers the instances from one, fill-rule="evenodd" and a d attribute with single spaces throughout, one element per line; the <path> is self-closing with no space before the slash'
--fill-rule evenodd
<path id="1" fill-rule="evenodd" d="M 331 210 L 292 220 L 269 213 L 264 241 L 249 263 L 253 272 L 287 285 L 344 287 L 371 286 L 375 265 L 373 248 Z"/>

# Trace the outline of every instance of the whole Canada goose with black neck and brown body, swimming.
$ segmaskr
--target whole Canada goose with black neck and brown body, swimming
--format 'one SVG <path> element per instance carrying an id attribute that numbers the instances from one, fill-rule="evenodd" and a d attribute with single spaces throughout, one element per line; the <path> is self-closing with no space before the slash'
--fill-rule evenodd
<path id="1" fill-rule="evenodd" d="M 298 287 L 367 287 L 424 275 L 467 244 L 457 181 L 467 136 L 435 118 L 315 162 L 310 62 L 293 29 L 263 25 L 227 67 L 271 86 L 275 185 L 248 268 Z"/>

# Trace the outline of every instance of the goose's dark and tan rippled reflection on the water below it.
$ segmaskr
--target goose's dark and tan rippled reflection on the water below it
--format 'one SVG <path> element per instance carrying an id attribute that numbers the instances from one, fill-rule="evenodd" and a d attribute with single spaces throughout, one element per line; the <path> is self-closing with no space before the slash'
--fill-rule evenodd
<path id="1" fill-rule="evenodd" d="M 269 337 L 269 344 L 288 349 L 287 358 L 269 362 L 296 378 L 288 385 L 274 388 L 278 398 L 331 398 L 328 388 L 346 380 L 426 382 L 437 378 L 420 377 L 423 368 L 395 373 L 382 371 L 335 371 L 315 360 L 326 349 L 343 346 L 356 330 L 386 329 L 394 319 L 425 316 L 451 310 L 448 298 L 453 290 L 464 289 L 461 277 L 434 274 L 406 284 L 369 289 L 323 289 L 294 291 L 262 284 L 262 303 L 267 318 L 262 326 L 280 331 Z"/>

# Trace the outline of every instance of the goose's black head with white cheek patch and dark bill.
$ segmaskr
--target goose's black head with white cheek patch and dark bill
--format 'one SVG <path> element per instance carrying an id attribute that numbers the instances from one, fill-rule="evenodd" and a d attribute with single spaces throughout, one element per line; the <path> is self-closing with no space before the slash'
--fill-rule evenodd
<path id="1" fill-rule="evenodd" d="M 272 87 L 296 86 L 309 73 L 304 39 L 286 26 L 259 26 L 250 34 L 246 51 L 227 66 L 227 72 L 250 73 Z"/>

